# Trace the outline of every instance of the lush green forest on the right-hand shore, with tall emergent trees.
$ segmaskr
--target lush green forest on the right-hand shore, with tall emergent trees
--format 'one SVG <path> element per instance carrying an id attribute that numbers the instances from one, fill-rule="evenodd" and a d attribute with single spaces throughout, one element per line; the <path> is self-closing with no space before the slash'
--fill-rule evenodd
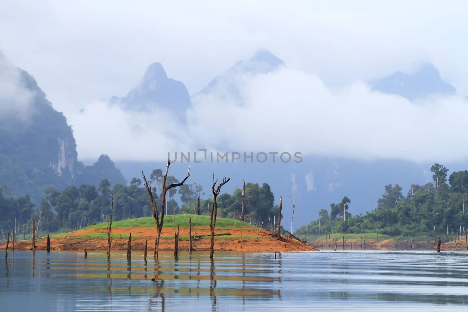
<path id="1" fill-rule="evenodd" d="M 344 196 L 330 209 L 319 211 L 318 219 L 303 225 L 294 234 L 299 237 L 327 233 L 378 232 L 394 236 L 443 237 L 452 240 L 464 236 L 468 224 L 465 215 L 465 186 L 468 171 L 453 172 L 442 165 L 431 166 L 433 182 L 412 184 L 404 196 L 398 184 L 388 184 L 377 200 L 377 206 L 365 214 L 352 215 L 352 202 Z M 468 214 L 468 213 L 467 213 Z"/>

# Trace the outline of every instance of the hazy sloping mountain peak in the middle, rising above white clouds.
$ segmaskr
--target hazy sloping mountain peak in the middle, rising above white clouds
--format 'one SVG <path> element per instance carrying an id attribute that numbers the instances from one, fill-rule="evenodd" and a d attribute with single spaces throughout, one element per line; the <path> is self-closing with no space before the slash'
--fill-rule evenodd
<path id="1" fill-rule="evenodd" d="M 218 99 L 234 100 L 242 104 L 241 90 L 246 79 L 270 73 L 284 65 L 285 62 L 271 52 L 258 51 L 253 57 L 237 62 L 226 72 L 216 76 L 206 87 L 192 96 L 192 101 L 196 103 L 202 101 L 206 95 L 216 94 Z"/>

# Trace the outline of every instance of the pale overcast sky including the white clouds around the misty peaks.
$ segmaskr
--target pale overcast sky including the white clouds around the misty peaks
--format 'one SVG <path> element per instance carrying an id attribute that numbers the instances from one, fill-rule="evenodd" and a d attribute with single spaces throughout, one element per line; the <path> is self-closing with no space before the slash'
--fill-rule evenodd
<path id="1" fill-rule="evenodd" d="M 463 1 L 2 2 L 0 51 L 64 112 L 83 160 L 102 153 L 163 160 L 161 150 L 206 142 L 360 159 L 468 156 L 460 144 L 468 130 Z M 153 62 L 195 94 L 259 49 L 286 67 L 249 79 L 243 107 L 205 99 L 187 112 L 186 128 L 164 113 L 127 113 L 102 101 L 126 95 Z M 424 62 L 458 95 L 411 103 L 366 85 Z M 417 139 L 409 135 L 415 130 Z"/>

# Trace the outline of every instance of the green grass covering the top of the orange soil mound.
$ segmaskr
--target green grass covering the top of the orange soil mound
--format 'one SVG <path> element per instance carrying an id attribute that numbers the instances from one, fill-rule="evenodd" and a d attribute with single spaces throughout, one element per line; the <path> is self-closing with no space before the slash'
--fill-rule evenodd
<path id="1" fill-rule="evenodd" d="M 195 222 L 197 226 L 210 226 L 210 216 L 197 216 L 197 215 L 176 215 L 175 218 L 172 215 L 164 216 L 164 227 L 177 227 L 177 224 L 180 228 L 189 227 L 189 218 L 192 218 L 192 228 L 195 227 Z M 241 225 L 255 228 L 253 225 L 249 225 L 246 222 L 241 222 L 239 220 L 228 219 L 228 218 L 217 218 L 216 219 L 216 229 L 218 230 L 227 230 L 232 228 L 238 228 Z M 122 221 L 112 222 L 112 228 L 121 227 L 124 229 L 131 229 L 134 227 L 156 227 L 156 221 L 153 222 L 151 217 L 135 218 Z M 99 223 L 96 225 L 89 225 L 85 229 L 96 229 L 102 228 L 107 229 L 107 222 Z M 182 237 L 182 236 L 181 236 Z"/>

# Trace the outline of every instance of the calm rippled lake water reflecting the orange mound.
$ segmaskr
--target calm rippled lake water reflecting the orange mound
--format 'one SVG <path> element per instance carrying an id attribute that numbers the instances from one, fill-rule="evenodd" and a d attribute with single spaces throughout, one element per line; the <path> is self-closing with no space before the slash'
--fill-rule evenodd
<path id="1" fill-rule="evenodd" d="M 3 258 L 3 250 L 1 258 Z M 468 254 L 16 251 L 0 311 L 428 311 L 468 306 Z M 155 277 L 156 281 L 151 278 Z"/>

